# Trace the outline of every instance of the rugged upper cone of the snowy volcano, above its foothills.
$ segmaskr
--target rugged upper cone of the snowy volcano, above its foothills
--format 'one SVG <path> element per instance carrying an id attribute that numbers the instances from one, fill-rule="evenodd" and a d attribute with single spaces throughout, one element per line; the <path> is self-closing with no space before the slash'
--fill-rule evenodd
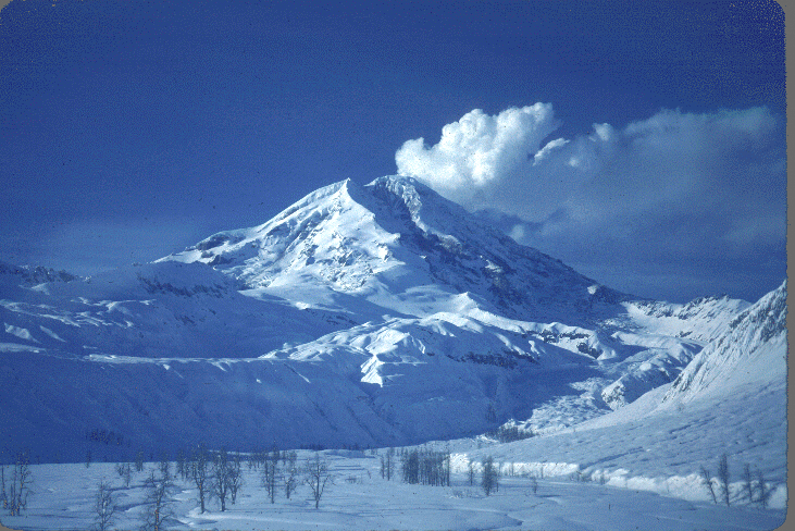
<path id="1" fill-rule="evenodd" d="M 349 294 L 420 314 L 407 299 L 472 294 L 501 314 L 571 318 L 624 295 L 482 224 L 419 181 L 352 181 L 308 195 L 271 221 L 226 231 L 163 260 L 203 262 L 249 289 Z"/>

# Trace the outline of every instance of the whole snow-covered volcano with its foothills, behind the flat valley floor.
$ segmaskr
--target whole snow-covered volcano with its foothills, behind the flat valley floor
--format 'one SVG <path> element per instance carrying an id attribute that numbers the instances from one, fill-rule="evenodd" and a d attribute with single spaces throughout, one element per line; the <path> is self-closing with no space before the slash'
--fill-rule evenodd
<path id="1" fill-rule="evenodd" d="M 400 176 L 154 263 L 21 271 L 0 269 L 0 444 L 50 458 L 554 433 L 684 378 L 749 306 L 618 293 Z"/>

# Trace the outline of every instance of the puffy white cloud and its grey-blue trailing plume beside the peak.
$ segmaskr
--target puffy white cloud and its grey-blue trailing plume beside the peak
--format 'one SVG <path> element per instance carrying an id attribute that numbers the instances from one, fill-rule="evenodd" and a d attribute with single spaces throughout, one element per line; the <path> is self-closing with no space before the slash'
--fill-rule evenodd
<path id="1" fill-rule="evenodd" d="M 638 277 L 682 268 L 693 284 L 699 271 L 753 277 L 763 260 L 781 276 L 773 288 L 785 267 L 783 125 L 766 108 L 662 110 L 542 148 L 558 123 L 550 104 L 536 103 L 496 116 L 472 111 L 435 146 L 403 144 L 396 162 L 470 210 L 530 222 L 506 230 L 592 274 L 619 262 Z"/>

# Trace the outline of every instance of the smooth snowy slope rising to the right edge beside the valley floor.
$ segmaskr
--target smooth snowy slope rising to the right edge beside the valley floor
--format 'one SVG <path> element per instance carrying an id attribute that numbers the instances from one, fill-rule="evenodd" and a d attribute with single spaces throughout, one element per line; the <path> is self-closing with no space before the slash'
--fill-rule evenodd
<path id="1" fill-rule="evenodd" d="M 571 429 L 469 452 L 547 476 L 580 471 L 618 486 L 708 501 L 700 467 L 715 476 L 726 454 L 732 504 L 748 465 L 787 502 L 786 282 L 740 314 L 671 384 Z"/>

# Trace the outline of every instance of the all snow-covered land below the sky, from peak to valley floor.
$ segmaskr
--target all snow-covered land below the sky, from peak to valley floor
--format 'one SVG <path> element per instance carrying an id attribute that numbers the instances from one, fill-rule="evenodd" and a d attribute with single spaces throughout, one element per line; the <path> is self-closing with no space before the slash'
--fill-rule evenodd
<path id="1" fill-rule="evenodd" d="M 3 460 L 27 448 L 61 462 L 36 467 L 42 505 L 2 521 L 80 529 L 105 467 L 74 465 L 88 452 L 430 442 L 457 474 L 493 455 L 543 489 L 506 478 L 484 499 L 461 476 L 447 491 L 384 483 L 373 459 L 336 453 L 338 476 L 368 481 L 338 483 L 321 511 L 251 494 L 213 520 L 183 492 L 178 514 L 197 529 L 770 529 L 787 501 L 785 316 L 786 283 L 753 305 L 614 292 L 406 177 L 338 183 L 263 225 L 90 279 L 0 263 Z M 479 435 L 501 424 L 535 436 Z M 711 506 L 697 476 L 723 454 L 732 508 Z M 742 507 L 745 465 L 773 489 L 769 509 Z M 137 527 L 142 494 L 119 494 L 119 527 Z M 78 526 L 58 523 L 70 513 Z"/>

